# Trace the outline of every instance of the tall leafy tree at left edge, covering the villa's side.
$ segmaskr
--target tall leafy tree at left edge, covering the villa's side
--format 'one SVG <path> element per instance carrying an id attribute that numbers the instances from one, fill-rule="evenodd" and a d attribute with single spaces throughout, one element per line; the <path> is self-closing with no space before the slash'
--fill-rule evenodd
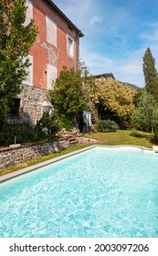
<path id="1" fill-rule="evenodd" d="M 20 92 L 29 67 L 28 51 L 37 37 L 34 21 L 24 26 L 26 0 L 0 1 L 0 122 Z"/>

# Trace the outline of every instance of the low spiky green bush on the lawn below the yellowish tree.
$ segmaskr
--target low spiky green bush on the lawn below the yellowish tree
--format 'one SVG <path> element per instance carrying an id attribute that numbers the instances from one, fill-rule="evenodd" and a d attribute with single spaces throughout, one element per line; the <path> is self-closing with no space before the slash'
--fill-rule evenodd
<path id="1" fill-rule="evenodd" d="M 111 120 L 100 120 L 95 126 L 98 132 L 101 133 L 116 132 L 119 129 L 118 124 Z"/>

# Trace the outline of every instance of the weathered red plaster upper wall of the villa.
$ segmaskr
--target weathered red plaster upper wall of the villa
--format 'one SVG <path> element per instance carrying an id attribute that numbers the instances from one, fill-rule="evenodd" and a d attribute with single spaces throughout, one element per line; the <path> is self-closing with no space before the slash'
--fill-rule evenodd
<path id="1" fill-rule="evenodd" d="M 55 80 L 63 66 L 77 69 L 78 35 L 46 1 L 31 0 L 31 2 L 33 18 L 38 28 L 37 40 L 29 52 L 33 56 L 33 86 L 50 89 L 50 79 Z M 68 36 L 74 40 L 73 58 L 68 56 Z"/>

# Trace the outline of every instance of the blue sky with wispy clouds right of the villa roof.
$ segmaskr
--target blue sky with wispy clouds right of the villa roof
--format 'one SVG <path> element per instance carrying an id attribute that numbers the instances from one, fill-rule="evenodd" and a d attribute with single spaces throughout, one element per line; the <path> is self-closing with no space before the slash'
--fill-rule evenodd
<path id="1" fill-rule="evenodd" d="M 158 64 L 157 0 L 53 0 L 82 30 L 80 59 L 90 73 L 144 86 L 142 57 L 151 48 Z M 156 65 L 157 68 L 157 65 Z"/>

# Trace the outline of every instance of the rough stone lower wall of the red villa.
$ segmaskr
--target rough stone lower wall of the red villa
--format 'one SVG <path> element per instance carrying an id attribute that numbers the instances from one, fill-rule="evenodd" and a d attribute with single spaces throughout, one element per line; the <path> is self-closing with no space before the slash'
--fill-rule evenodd
<path id="1" fill-rule="evenodd" d="M 23 85 L 22 91 L 16 98 L 20 99 L 20 111 L 18 117 L 9 119 L 12 123 L 31 123 L 37 124 L 37 121 L 43 116 L 42 103 L 47 101 L 47 90 L 34 88 L 29 85 Z"/>

